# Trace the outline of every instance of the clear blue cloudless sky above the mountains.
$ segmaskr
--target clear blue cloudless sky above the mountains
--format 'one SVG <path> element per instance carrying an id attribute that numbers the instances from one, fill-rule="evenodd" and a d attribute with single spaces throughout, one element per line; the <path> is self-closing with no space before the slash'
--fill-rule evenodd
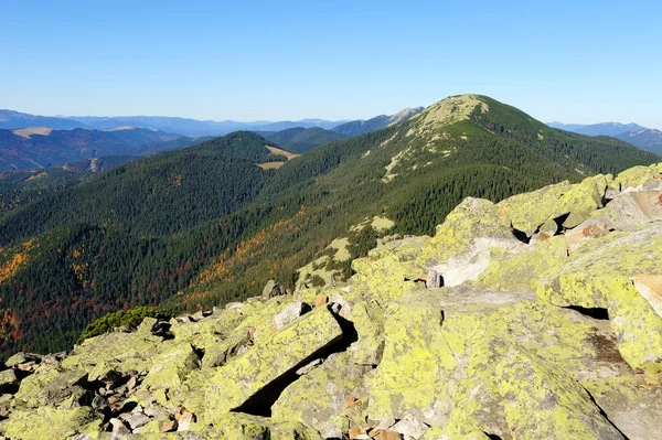
<path id="1" fill-rule="evenodd" d="M 370 118 L 478 93 L 662 128 L 661 1 L 0 1 L 0 108 Z"/>

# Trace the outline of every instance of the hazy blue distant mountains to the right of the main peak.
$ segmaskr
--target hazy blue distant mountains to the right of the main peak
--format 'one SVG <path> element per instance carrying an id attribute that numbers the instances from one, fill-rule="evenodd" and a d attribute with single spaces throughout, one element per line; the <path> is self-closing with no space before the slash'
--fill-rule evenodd
<path id="1" fill-rule="evenodd" d="M 611 136 L 624 140 L 641 149 L 662 154 L 662 131 L 645 128 L 638 124 L 602 122 L 602 124 L 563 124 L 547 122 L 549 127 L 574 131 L 587 136 Z"/>

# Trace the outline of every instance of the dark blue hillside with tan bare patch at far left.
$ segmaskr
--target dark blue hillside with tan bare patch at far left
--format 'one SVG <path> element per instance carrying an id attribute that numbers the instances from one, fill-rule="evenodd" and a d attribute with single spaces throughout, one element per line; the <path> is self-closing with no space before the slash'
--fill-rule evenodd
<path id="1" fill-rule="evenodd" d="M 178 138 L 178 135 L 131 127 L 113 131 L 0 130 L 0 171 L 43 169 L 103 155 L 146 154 L 159 151 L 162 143 L 169 148 L 169 142 Z"/>

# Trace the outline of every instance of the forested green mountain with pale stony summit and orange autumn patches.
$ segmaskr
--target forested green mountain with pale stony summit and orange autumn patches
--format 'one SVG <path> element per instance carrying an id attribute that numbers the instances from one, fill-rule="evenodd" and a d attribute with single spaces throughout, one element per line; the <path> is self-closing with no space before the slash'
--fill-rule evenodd
<path id="1" fill-rule="evenodd" d="M 380 237 L 431 235 L 467 196 L 498 202 L 659 161 L 476 95 L 278 170 L 257 167 L 287 159 L 265 146 L 276 147 L 237 132 L 142 158 L 1 217 L 3 353 L 61 350 L 113 310 L 209 309 L 254 296 L 269 279 L 292 288 L 297 269 L 339 237 L 348 246 L 322 266 L 344 278 Z"/>

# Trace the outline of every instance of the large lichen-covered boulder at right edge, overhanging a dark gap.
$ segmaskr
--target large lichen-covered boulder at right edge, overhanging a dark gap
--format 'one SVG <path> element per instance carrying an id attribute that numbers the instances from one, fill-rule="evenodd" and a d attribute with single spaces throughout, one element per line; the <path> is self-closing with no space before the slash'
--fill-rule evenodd
<path id="1" fill-rule="evenodd" d="M 606 308 L 630 365 L 662 371 L 662 319 L 634 288 L 637 273 L 662 275 L 662 224 L 611 233 L 585 243 L 543 276 L 542 300 L 557 305 Z"/>

